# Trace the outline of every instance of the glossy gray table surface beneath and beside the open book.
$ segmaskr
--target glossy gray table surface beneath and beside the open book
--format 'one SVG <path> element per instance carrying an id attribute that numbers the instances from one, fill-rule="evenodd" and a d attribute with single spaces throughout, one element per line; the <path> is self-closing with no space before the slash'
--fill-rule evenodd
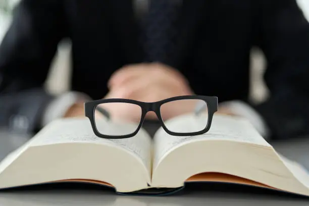
<path id="1" fill-rule="evenodd" d="M 0 160 L 22 145 L 30 137 L 21 134 L 12 134 L 0 130 Z M 309 170 L 309 137 L 294 140 L 271 142 L 282 155 L 300 162 Z M 214 187 L 216 188 L 216 187 Z M 225 188 L 222 187 L 222 188 Z M 104 189 L 34 189 L 18 191 L 1 191 L 1 206 L 17 205 L 126 205 L 126 206 L 181 206 L 181 205 L 309 205 L 309 198 L 276 193 L 269 191 L 251 191 L 242 189 L 186 189 L 179 194 L 170 196 L 123 196 L 111 190 Z"/>

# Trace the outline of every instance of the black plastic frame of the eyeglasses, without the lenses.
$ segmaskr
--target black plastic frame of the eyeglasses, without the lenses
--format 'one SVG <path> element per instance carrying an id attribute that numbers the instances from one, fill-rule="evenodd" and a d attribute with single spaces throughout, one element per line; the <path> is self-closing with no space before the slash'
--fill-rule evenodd
<path id="1" fill-rule="evenodd" d="M 171 101 L 176 101 L 176 100 L 184 100 L 184 99 L 199 99 L 199 100 L 203 100 L 206 105 L 207 105 L 207 109 L 208 109 L 208 122 L 207 125 L 205 126 L 205 128 L 203 130 L 197 131 L 197 132 L 173 132 L 170 131 L 164 124 L 164 121 L 162 119 L 161 116 L 161 106 L 167 102 L 171 102 Z M 95 125 L 95 110 L 96 107 L 100 104 L 106 104 L 106 103 L 128 103 L 128 104 L 133 104 L 133 105 L 137 105 L 141 108 L 141 117 L 140 117 L 140 121 L 138 124 L 138 127 L 136 128 L 136 130 L 131 133 L 131 134 L 126 134 L 126 135 L 105 135 L 105 134 L 101 134 Z M 217 96 L 203 96 L 203 95 L 184 95 L 184 96 L 174 96 L 174 97 L 170 97 L 170 98 L 166 98 L 160 101 L 155 101 L 155 102 L 143 102 L 143 101 L 137 101 L 137 100 L 133 100 L 133 99 L 124 99 L 124 98 L 109 98 L 109 99 L 98 99 L 98 100 L 93 100 L 93 101 L 88 101 L 84 103 L 84 109 L 85 109 L 85 116 L 90 120 L 91 123 L 91 127 L 92 130 L 94 132 L 94 134 L 97 137 L 100 138 L 105 138 L 105 139 L 125 139 L 125 138 L 130 138 L 135 136 L 138 131 L 140 130 L 140 128 L 143 125 L 143 122 L 145 120 L 145 116 L 148 112 L 155 112 L 159 122 L 161 123 L 161 126 L 163 127 L 163 129 L 165 130 L 165 132 L 167 132 L 170 135 L 173 136 L 195 136 L 195 135 L 199 135 L 199 134 L 204 134 L 206 132 L 208 132 L 211 128 L 212 125 L 212 120 L 213 120 L 213 116 L 215 114 L 215 112 L 218 111 L 218 97 Z M 201 109 L 201 108 L 199 108 Z M 99 112 L 101 112 L 102 114 L 104 114 L 105 116 L 108 116 L 108 112 L 107 111 L 102 111 L 100 110 Z"/>

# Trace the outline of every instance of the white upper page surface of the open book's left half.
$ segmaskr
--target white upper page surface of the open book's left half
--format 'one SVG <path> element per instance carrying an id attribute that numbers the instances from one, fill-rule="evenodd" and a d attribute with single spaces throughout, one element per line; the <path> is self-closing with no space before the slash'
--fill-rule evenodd
<path id="1" fill-rule="evenodd" d="M 121 127 L 117 127 L 117 129 L 121 130 Z M 143 129 L 140 129 L 137 135 L 131 138 L 105 139 L 97 137 L 93 133 L 90 121 L 86 118 L 60 119 L 43 128 L 28 144 L 39 146 L 72 142 L 87 142 L 120 147 L 130 151 L 150 170 L 151 138 Z"/>

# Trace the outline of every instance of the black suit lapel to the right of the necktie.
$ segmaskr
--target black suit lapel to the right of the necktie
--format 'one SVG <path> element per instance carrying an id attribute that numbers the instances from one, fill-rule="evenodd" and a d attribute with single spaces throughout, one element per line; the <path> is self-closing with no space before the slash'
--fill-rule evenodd
<path id="1" fill-rule="evenodd" d="M 206 0 L 183 0 L 179 21 L 177 22 L 177 39 L 172 66 L 178 68 L 183 65 L 185 57 L 190 53 L 190 46 L 203 14 Z"/>

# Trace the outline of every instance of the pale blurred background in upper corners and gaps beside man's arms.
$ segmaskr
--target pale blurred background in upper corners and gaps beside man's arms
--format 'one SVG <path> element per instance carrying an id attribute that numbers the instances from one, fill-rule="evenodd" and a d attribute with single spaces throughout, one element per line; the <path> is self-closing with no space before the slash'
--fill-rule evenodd
<path id="1" fill-rule="evenodd" d="M 10 26 L 13 9 L 18 3 L 19 0 L 0 0 L 0 42 Z M 297 0 L 297 3 L 309 21 L 309 0 Z M 45 87 L 50 93 L 60 94 L 70 90 L 70 51 L 71 44 L 69 40 L 64 40 L 59 44 L 58 53 L 54 58 L 45 83 Z M 252 48 L 250 99 L 253 102 L 264 101 L 268 95 L 262 78 L 265 66 L 266 61 L 263 53 L 257 48 Z"/>

